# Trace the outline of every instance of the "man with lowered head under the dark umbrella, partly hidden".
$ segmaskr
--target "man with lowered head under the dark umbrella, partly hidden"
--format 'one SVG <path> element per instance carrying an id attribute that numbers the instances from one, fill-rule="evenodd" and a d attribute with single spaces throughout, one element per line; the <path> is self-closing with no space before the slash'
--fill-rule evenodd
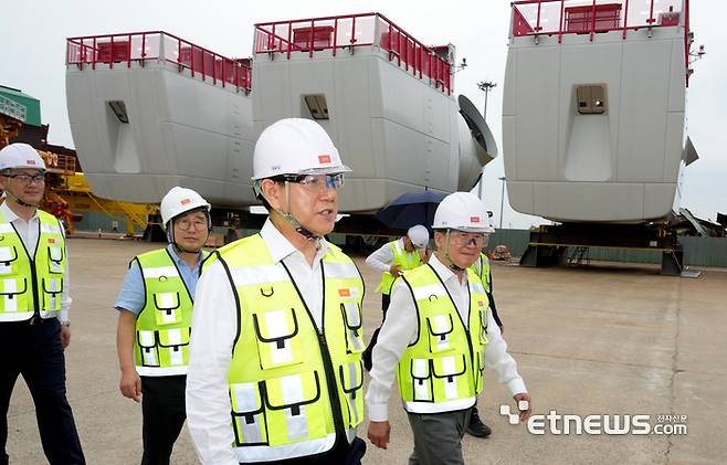
<path id="1" fill-rule="evenodd" d="M 381 321 L 387 317 L 389 308 L 391 285 L 403 272 L 414 270 L 426 260 L 426 244 L 429 244 L 429 231 L 422 224 L 413 225 L 407 231 L 407 235 L 383 244 L 366 258 L 366 264 L 381 272 L 381 284 L 377 292 L 381 292 Z M 364 351 L 364 367 L 371 370 L 371 351 L 376 346 L 379 329 L 373 331 L 366 351 Z"/>

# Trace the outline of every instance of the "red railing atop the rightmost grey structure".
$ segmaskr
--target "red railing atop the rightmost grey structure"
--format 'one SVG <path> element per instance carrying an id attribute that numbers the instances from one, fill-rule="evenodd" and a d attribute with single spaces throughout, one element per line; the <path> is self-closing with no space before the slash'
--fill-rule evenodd
<path id="1" fill-rule="evenodd" d="M 665 4 L 664 4 L 665 3 Z M 683 21 L 682 21 L 683 17 Z M 513 2 L 512 36 L 594 34 L 684 24 L 686 84 L 689 84 L 689 0 L 519 0 Z"/>

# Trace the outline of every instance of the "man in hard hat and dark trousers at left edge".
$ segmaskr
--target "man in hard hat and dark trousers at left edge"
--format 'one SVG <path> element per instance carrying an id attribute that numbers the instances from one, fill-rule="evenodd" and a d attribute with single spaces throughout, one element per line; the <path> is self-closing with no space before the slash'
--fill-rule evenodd
<path id="1" fill-rule="evenodd" d="M 45 457 L 52 464 L 84 464 L 73 412 L 65 395 L 71 342 L 69 260 L 65 232 L 38 209 L 45 163 L 28 144 L 0 150 L 0 464 L 8 463 L 8 405 L 19 374 L 35 403 Z"/>

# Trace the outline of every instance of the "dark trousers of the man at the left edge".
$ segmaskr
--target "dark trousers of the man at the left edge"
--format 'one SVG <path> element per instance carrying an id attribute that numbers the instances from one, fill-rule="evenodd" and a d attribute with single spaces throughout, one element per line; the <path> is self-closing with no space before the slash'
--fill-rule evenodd
<path id="1" fill-rule="evenodd" d="M 22 374 L 35 404 L 43 452 L 51 465 L 85 464 L 65 398 L 65 358 L 56 318 L 0 323 L 0 464 L 8 463 L 8 406 Z"/>

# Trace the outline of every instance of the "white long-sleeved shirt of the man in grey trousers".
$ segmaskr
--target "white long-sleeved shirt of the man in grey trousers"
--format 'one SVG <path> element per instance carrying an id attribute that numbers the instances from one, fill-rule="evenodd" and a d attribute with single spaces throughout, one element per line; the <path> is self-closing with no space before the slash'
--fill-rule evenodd
<path id="1" fill-rule="evenodd" d="M 470 316 L 470 294 L 467 290 L 466 274 L 462 283 L 457 276 L 444 266 L 433 254 L 429 264 L 442 278 L 444 287 L 449 290 L 454 306 L 467 324 Z M 391 385 L 396 380 L 397 366 L 407 346 L 417 340 L 419 332 L 419 318 L 414 298 L 407 284 L 399 279 L 391 289 L 391 305 L 387 318 L 379 332 L 379 340 L 373 347 L 371 382 L 366 393 L 366 403 L 369 409 L 369 420 L 381 422 L 389 420 L 389 397 Z M 523 378 L 517 372 L 515 359 L 507 353 L 507 344 L 503 339 L 499 328 L 488 313 L 487 337 L 489 344 L 485 349 L 485 366 L 497 372 L 498 381 L 506 384 L 513 395 L 527 392 Z"/>

